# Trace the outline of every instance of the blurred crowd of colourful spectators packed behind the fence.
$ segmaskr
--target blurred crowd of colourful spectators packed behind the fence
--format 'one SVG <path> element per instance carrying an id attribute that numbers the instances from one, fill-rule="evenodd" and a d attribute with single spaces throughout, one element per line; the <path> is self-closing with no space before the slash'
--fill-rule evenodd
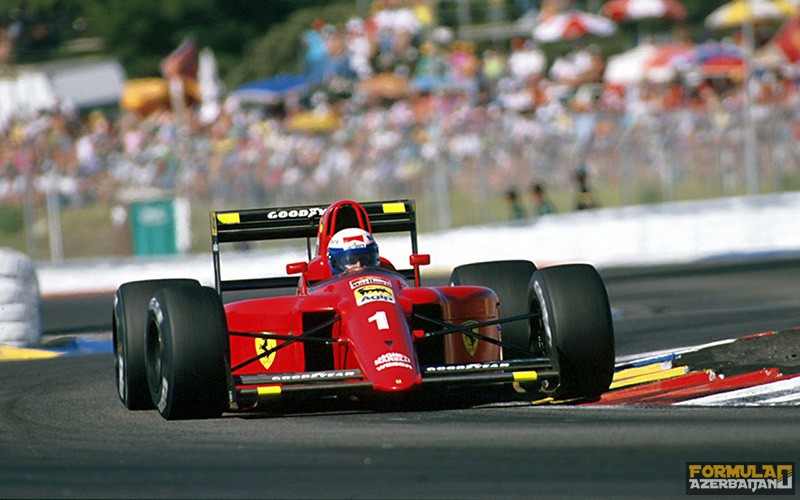
<path id="1" fill-rule="evenodd" d="M 169 193 L 248 207 L 457 191 L 480 207 L 510 188 L 569 189 L 576 171 L 610 184 L 638 173 L 664 182 L 667 160 L 650 148 L 667 137 L 690 156 L 708 146 L 704 134 L 719 134 L 717 145 L 740 140 L 740 78 L 608 84 L 596 47 L 578 45 L 552 64 L 530 38 L 478 52 L 435 26 L 424 1 L 375 6 L 344 26 L 309 27 L 302 42 L 313 90 L 278 106 L 231 96 L 201 119 L 191 105 L 83 114 L 62 103 L 3 124 L 0 203 Z M 754 118 L 783 120 L 784 169 L 797 164 L 800 138 L 800 79 L 790 69 L 759 71 L 751 82 Z M 290 127 L 299 113 L 335 119 Z M 640 151 L 627 172 L 622 140 Z M 690 160 L 675 175 L 690 172 Z"/>

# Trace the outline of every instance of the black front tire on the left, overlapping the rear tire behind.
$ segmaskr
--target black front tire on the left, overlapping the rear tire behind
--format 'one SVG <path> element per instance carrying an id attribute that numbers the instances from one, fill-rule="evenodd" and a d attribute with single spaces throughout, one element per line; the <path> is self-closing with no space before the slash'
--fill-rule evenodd
<path id="1" fill-rule="evenodd" d="M 147 313 L 150 397 L 167 420 L 215 418 L 228 408 L 228 327 L 217 292 L 172 286 Z"/>

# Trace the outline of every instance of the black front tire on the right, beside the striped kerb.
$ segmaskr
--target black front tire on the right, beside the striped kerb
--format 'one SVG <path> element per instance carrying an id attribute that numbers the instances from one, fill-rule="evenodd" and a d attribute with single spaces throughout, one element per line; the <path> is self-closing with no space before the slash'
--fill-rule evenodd
<path id="1" fill-rule="evenodd" d="M 594 267 L 570 264 L 537 270 L 530 284 L 531 312 L 545 352 L 558 370 L 556 399 L 597 399 L 614 376 L 614 325 L 608 293 Z M 538 309 L 536 311 L 535 309 Z"/>

